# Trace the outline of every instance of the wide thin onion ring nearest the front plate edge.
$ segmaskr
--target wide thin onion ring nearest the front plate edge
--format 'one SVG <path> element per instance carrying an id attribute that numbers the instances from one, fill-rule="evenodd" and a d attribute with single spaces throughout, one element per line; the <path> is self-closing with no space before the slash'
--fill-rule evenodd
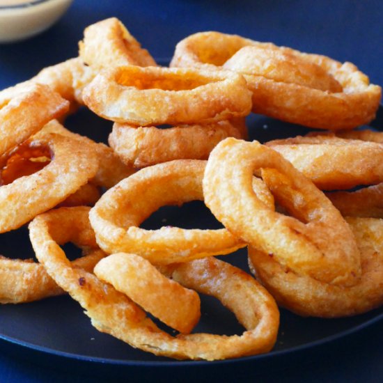
<path id="1" fill-rule="evenodd" d="M 72 228 L 75 221 L 72 217 L 55 219 L 54 214 L 54 210 L 41 214 L 29 225 L 36 257 L 56 283 L 81 304 L 98 330 L 141 350 L 177 359 L 235 358 L 273 347 L 279 327 L 278 308 L 269 293 L 241 269 L 214 258 L 172 266 L 173 279 L 220 299 L 247 329 L 241 336 L 189 334 L 173 338 L 125 295 L 70 265 L 55 237 L 59 231 Z"/>

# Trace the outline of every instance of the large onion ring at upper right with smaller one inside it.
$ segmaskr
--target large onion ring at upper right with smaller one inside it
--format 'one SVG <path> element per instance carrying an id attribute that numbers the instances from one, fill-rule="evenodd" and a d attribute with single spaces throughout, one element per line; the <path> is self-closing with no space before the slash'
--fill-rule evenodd
<path id="1" fill-rule="evenodd" d="M 262 76 L 262 72 L 261 75 L 249 74 L 247 72 L 253 66 L 249 56 L 255 52 L 249 53 L 251 49 L 248 46 L 278 51 L 308 61 L 310 65 L 318 65 L 341 84 L 343 91 L 329 93 L 268 79 Z M 242 48 L 244 51 L 240 52 Z M 382 95 L 382 88 L 370 84 L 368 77 L 352 63 L 342 64 L 327 56 L 305 54 L 269 42 L 217 32 L 196 33 L 179 42 L 171 66 L 215 70 L 233 68 L 244 72 L 253 91 L 253 111 L 319 129 L 351 129 L 369 123 L 375 118 Z"/>

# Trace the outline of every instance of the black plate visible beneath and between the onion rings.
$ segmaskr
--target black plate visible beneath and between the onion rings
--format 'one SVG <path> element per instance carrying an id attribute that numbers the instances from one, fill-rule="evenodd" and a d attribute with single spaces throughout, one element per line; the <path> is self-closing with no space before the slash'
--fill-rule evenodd
<path id="1" fill-rule="evenodd" d="M 372 125 L 377 128 L 382 127 L 382 121 L 382 108 L 380 108 L 377 119 Z M 71 116 L 66 125 L 97 141 L 106 141 L 111 130 L 111 123 L 97 118 L 86 109 L 81 109 L 75 116 Z M 305 127 L 257 115 L 249 117 L 248 125 L 250 139 L 261 142 L 308 132 Z M 187 203 L 181 208 L 162 208 L 143 226 L 159 228 L 164 225 L 164 221 L 166 225 L 183 228 L 220 227 L 203 203 L 198 201 Z M 30 258 L 33 252 L 26 228 L 1 235 L 0 253 L 8 257 Z M 243 249 L 224 259 L 247 269 L 247 256 Z M 128 370 L 149 367 L 161 370 L 167 366 L 189 370 L 189 367 L 204 368 L 206 366 L 208 368 L 207 366 L 233 366 L 233 364 L 242 366 L 251 364 L 251 368 L 259 368 L 258 362 L 262 362 L 265 366 L 265 362 L 269 363 L 272 359 L 286 358 L 293 353 L 307 351 L 315 346 L 335 341 L 364 329 L 382 318 L 383 308 L 352 318 L 332 320 L 302 318 L 281 310 L 278 340 L 274 350 L 268 354 L 229 361 L 174 361 L 135 350 L 116 338 L 98 332 L 91 326 L 90 320 L 84 315 L 79 304 L 63 296 L 30 304 L 1 306 L 0 339 L 9 342 L 9 347 L 24 346 L 29 350 L 43 352 L 45 357 L 48 355 L 65 357 L 64 366 L 67 366 L 70 361 L 77 361 L 80 364 L 90 363 L 92 366 L 102 366 L 104 370 L 116 366 Z M 230 335 L 240 334 L 243 329 L 238 325 L 233 314 L 221 306 L 217 300 L 202 297 L 201 322 L 195 331 Z M 35 360 L 41 361 L 39 358 Z M 59 364 L 57 366 L 59 367 Z M 151 371 L 154 373 L 153 370 Z"/>

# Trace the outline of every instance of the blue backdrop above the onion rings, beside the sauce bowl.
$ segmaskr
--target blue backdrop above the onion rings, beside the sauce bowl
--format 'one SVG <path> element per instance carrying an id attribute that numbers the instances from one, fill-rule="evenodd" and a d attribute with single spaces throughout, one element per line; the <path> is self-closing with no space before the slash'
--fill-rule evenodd
<path id="1" fill-rule="evenodd" d="M 382 1 L 75 0 L 47 33 L 0 45 L 0 86 L 76 56 L 84 27 L 111 16 L 155 58 L 171 57 L 175 44 L 189 34 L 215 30 L 351 61 L 373 84 L 383 85 Z"/>

